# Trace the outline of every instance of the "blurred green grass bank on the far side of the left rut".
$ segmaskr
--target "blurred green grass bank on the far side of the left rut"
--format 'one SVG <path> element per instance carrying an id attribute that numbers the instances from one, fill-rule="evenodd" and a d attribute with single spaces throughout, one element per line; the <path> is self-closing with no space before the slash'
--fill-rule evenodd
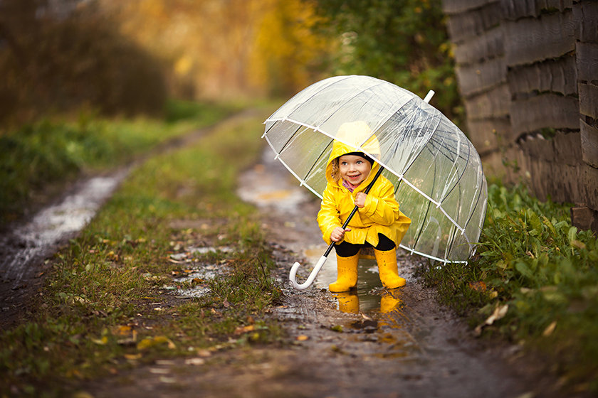
<path id="1" fill-rule="evenodd" d="M 164 119 L 101 119 L 81 112 L 75 120 L 49 119 L 0 134 L 0 224 L 23 215 L 52 183 L 132 161 L 161 142 L 214 124 L 238 104 L 171 100 Z"/>

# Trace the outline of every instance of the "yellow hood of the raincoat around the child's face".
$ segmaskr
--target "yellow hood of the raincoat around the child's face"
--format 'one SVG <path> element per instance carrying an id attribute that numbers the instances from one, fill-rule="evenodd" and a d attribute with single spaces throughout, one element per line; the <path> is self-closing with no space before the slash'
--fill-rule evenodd
<path id="1" fill-rule="evenodd" d="M 372 129 L 369 128 L 366 122 L 362 121 L 347 122 L 340 125 L 326 165 L 326 180 L 332 184 L 342 184 L 342 178 L 336 180 L 333 177 L 335 171 L 332 161 L 352 152 L 364 152 L 374 160 L 369 176 L 360 184 L 360 190 L 365 189 L 372 182 L 379 168 L 379 164 L 374 158 L 380 156 L 380 144 Z"/>

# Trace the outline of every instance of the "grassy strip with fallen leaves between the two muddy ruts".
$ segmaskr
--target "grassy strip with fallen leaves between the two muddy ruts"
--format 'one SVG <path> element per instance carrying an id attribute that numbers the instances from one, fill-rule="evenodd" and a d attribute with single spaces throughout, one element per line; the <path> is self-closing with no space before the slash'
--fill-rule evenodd
<path id="1" fill-rule="evenodd" d="M 269 276 L 270 249 L 256 210 L 235 194 L 238 174 L 261 153 L 267 116 L 224 124 L 127 178 L 50 260 L 28 320 L 1 333 L 0 395 L 64 396 L 82 380 L 156 358 L 280 339 L 282 329 L 266 316 L 280 296 Z M 234 250 L 171 261 L 173 254 L 186 256 L 189 246 Z M 205 266 L 223 273 L 211 281 L 173 279 Z M 208 285 L 210 294 L 167 294 L 198 284 Z"/>

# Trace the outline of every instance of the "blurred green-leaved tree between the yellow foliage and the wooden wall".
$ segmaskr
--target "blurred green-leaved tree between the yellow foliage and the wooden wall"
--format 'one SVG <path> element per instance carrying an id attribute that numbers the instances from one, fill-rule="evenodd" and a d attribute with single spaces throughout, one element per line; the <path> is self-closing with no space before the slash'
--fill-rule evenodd
<path id="1" fill-rule="evenodd" d="M 318 31 L 340 43 L 334 72 L 370 75 L 424 97 L 461 122 L 453 55 L 441 0 L 309 0 L 316 4 Z"/>

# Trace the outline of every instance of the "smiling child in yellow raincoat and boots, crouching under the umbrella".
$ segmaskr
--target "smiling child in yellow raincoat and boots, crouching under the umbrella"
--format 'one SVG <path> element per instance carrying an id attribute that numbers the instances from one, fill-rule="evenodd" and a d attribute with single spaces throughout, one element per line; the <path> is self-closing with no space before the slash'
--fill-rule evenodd
<path id="1" fill-rule="evenodd" d="M 366 195 L 363 191 L 374 179 L 379 165 L 363 152 L 379 154 L 379 143 L 366 123 L 342 124 L 326 166 L 327 185 L 318 225 L 327 244 L 337 242 L 337 281 L 328 288 L 332 292 L 349 291 L 357 285 L 357 262 L 362 247 L 374 247 L 380 281 L 387 289 L 405 284 L 397 270 L 397 246 L 403 239 L 411 220 L 399 211 L 394 198 L 394 186 L 387 178 L 379 176 Z M 367 140 L 365 144 L 363 142 Z M 355 205 L 359 208 L 345 230 L 347 220 Z"/>

